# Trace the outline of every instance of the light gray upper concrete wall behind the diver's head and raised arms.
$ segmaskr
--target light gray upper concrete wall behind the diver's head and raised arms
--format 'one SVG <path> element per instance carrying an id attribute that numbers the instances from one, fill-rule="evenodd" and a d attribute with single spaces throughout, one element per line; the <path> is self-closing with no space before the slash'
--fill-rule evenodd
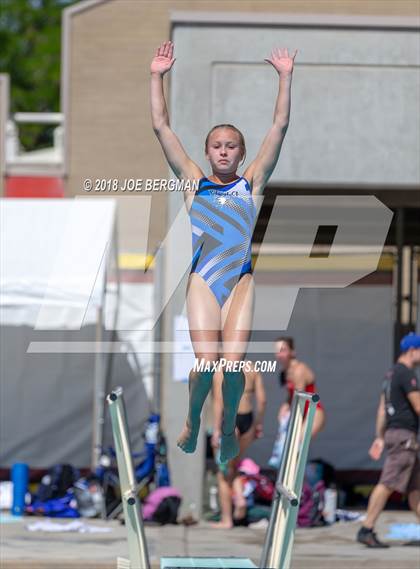
<path id="1" fill-rule="evenodd" d="M 270 185 L 418 186 L 419 28 L 372 29 L 365 27 L 376 25 L 371 18 L 352 16 L 337 24 L 319 16 L 283 19 L 198 25 L 186 15 L 175 24 L 173 126 L 192 159 L 207 171 L 206 134 L 229 122 L 244 133 L 245 166 L 253 160 L 278 92 L 278 75 L 263 58 L 281 45 L 299 51 L 290 127 Z"/>

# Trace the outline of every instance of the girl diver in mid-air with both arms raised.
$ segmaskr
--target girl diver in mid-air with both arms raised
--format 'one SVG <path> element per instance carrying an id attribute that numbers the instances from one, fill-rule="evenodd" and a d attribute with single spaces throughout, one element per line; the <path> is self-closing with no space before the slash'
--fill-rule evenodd
<path id="1" fill-rule="evenodd" d="M 181 180 L 199 180 L 195 192 L 185 192 L 193 238 L 187 315 L 195 356 L 198 361 L 210 364 L 202 371 L 190 372 L 188 417 L 178 446 L 189 453 L 196 448 L 201 410 L 212 386 L 211 366 L 220 359 L 226 362 L 220 444 L 220 460 L 225 462 L 239 452 L 235 422 L 245 378 L 238 364 L 246 355 L 254 306 L 251 273 L 254 197 L 262 194 L 279 158 L 289 124 L 297 52 L 289 55 L 287 49 L 274 49 L 271 57 L 265 59 L 279 75 L 279 90 L 273 124 L 255 160 L 243 176 L 238 176 L 236 171 L 245 160 L 244 137 L 233 125 L 216 125 L 205 141 L 205 155 L 212 169 L 211 176 L 206 178 L 169 125 L 163 76 L 175 61 L 173 49 L 172 42 L 164 42 L 150 66 L 152 125 L 175 175 Z"/>

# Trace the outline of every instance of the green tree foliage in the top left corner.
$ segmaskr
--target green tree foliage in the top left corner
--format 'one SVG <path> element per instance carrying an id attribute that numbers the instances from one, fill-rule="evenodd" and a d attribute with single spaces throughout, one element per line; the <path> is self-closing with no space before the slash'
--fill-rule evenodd
<path id="1" fill-rule="evenodd" d="M 10 75 L 10 111 L 57 112 L 61 13 L 75 0 L 0 0 L 0 71 Z M 27 150 L 50 144 L 51 128 L 21 125 Z"/>

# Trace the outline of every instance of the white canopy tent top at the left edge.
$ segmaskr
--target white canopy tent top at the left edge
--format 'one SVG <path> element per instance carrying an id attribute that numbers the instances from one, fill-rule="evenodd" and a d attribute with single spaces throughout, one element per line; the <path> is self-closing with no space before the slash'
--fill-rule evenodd
<path id="1" fill-rule="evenodd" d="M 96 322 L 113 245 L 115 201 L 5 199 L 0 211 L 1 306 L 36 309 L 6 310 L 7 321 L 50 330 Z"/>

